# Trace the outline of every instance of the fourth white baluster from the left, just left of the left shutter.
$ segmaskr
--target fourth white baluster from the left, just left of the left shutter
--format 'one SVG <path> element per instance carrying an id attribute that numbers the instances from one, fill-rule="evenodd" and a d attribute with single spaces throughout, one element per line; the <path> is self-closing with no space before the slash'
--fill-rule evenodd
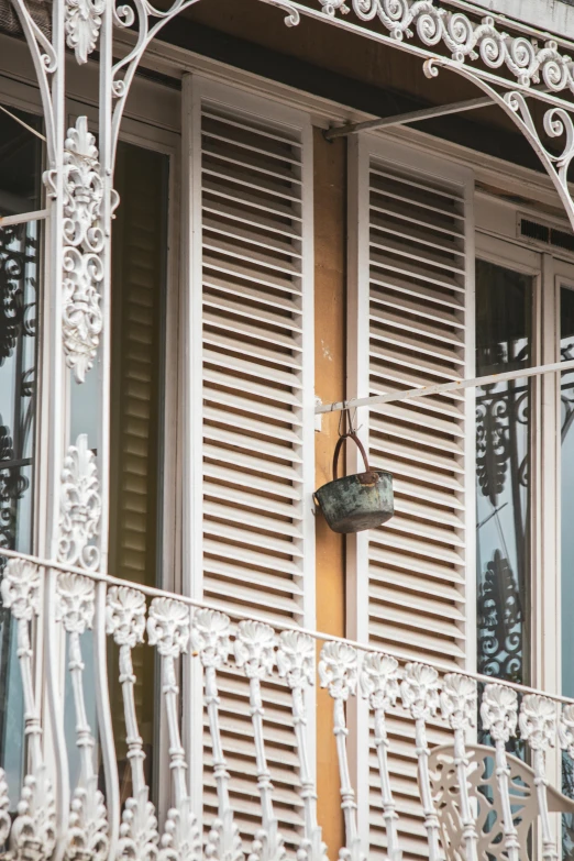
<path id="1" fill-rule="evenodd" d="M 167 813 L 161 840 L 159 861 L 199 861 L 201 839 L 187 791 L 185 750 L 178 720 L 175 662 L 187 651 L 189 608 L 173 598 L 154 598 L 147 617 L 147 638 L 162 656 L 163 695 L 169 735 L 169 768 L 174 786 L 174 806 Z"/>

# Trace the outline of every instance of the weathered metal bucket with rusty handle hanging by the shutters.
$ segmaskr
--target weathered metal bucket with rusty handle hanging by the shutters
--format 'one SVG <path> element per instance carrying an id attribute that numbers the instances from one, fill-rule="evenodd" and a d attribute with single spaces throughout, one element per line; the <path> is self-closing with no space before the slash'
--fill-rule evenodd
<path id="1" fill-rule="evenodd" d="M 345 439 L 358 446 L 365 472 L 338 478 L 338 461 Z M 372 470 L 365 449 L 356 433 L 339 438 L 333 455 L 333 481 L 323 484 L 314 494 L 324 519 L 333 532 L 361 532 L 375 529 L 395 514 L 393 476 L 383 470 Z"/>

